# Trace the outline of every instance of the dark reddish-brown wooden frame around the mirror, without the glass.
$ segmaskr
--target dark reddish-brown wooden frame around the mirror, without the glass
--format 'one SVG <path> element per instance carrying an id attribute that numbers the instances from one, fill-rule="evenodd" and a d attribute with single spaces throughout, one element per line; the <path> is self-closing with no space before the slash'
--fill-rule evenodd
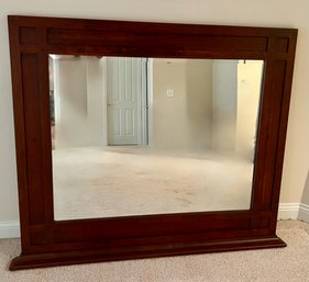
<path id="1" fill-rule="evenodd" d="M 11 270 L 286 246 L 276 221 L 297 30 L 8 20 L 22 241 Z M 250 210 L 55 221 L 48 54 L 264 60 Z"/>

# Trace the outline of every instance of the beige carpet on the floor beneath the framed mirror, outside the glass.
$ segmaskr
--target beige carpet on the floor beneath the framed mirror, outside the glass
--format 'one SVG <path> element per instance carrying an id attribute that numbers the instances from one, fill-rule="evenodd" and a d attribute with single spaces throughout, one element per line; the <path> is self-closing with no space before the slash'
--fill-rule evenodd
<path id="1" fill-rule="evenodd" d="M 307 282 L 309 224 L 278 223 L 286 248 L 207 253 L 9 272 L 19 239 L 0 240 L 2 282 Z"/>

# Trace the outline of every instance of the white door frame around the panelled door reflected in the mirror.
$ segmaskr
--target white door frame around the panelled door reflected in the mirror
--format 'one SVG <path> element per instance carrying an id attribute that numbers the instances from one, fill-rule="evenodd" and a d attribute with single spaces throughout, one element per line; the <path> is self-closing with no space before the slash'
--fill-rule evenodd
<path id="1" fill-rule="evenodd" d="M 136 58 L 140 60 L 140 68 L 137 69 L 137 76 L 141 77 L 140 91 L 136 97 L 136 114 L 137 114 L 137 142 L 136 144 L 110 144 L 109 142 L 109 101 L 108 101 L 108 57 L 102 57 L 102 84 L 103 84 L 103 146 L 114 146 L 114 145 L 136 145 L 136 146 L 147 146 L 151 145 L 152 136 L 152 71 L 148 68 L 147 58 Z M 142 93 L 145 92 L 146 95 Z"/>

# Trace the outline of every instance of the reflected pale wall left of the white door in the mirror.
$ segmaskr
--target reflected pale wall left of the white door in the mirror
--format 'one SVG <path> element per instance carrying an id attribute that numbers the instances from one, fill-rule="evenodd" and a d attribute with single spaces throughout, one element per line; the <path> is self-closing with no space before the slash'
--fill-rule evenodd
<path id="1" fill-rule="evenodd" d="M 54 59 L 55 148 L 103 145 L 103 75 L 97 57 Z"/>

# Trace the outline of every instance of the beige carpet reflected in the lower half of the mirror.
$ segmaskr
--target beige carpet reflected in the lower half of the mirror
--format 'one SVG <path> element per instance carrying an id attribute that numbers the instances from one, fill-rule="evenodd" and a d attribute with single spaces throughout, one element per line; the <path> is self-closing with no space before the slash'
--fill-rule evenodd
<path id="1" fill-rule="evenodd" d="M 253 163 L 141 147 L 53 151 L 56 219 L 249 210 Z"/>

